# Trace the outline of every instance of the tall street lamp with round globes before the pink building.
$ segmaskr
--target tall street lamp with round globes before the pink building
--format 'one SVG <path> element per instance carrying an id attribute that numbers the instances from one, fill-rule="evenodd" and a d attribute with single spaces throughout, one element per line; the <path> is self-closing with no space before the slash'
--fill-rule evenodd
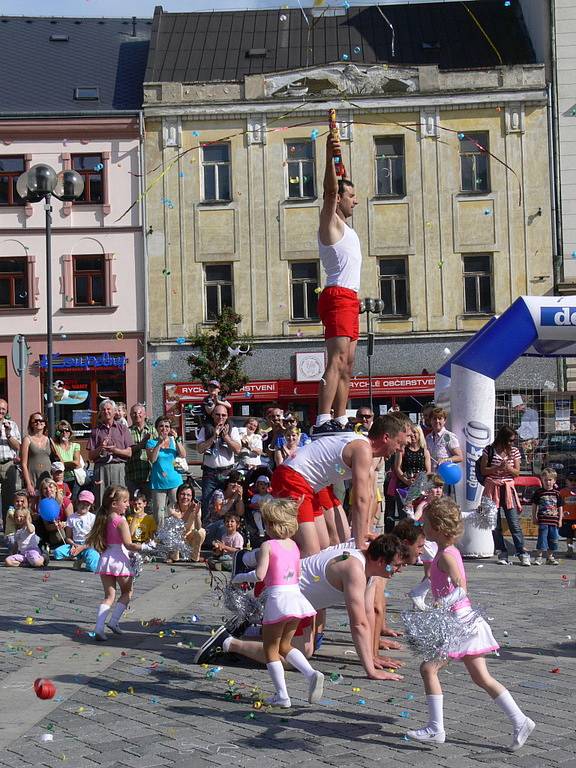
<path id="1" fill-rule="evenodd" d="M 52 195 L 59 200 L 77 200 L 84 191 L 84 179 L 73 170 L 56 173 L 44 163 L 33 165 L 16 182 L 23 200 L 38 203 L 44 200 L 46 211 L 46 410 L 48 434 L 54 436 L 54 391 L 52 370 Z"/>

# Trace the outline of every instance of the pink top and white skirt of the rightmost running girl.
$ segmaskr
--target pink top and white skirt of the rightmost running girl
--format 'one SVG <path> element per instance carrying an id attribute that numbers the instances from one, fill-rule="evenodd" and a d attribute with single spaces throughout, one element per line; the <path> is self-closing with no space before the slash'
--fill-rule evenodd
<path id="1" fill-rule="evenodd" d="M 464 589 L 466 589 L 466 571 L 464 570 L 462 555 L 454 545 L 446 547 L 444 552 L 456 560 L 462 585 Z M 430 566 L 430 583 L 434 600 L 441 600 L 456 589 L 448 574 L 441 571 L 438 567 L 438 558 L 440 554 L 440 552 L 436 554 Z M 458 602 L 451 605 L 450 610 L 454 612 L 457 619 L 461 620 L 463 626 L 465 625 L 466 620 L 469 619 L 470 614 L 473 613 L 472 604 L 468 597 L 464 597 L 462 600 L 458 600 Z M 484 656 L 487 653 L 494 653 L 500 648 L 494 639 L 494 635 L 492 634 L 488 622 L 481 616 L 477 616 L 473 621 L 473 632 L 466 634 L 449 650 L 448 658 L 463 659 L 465 656 Z"/>

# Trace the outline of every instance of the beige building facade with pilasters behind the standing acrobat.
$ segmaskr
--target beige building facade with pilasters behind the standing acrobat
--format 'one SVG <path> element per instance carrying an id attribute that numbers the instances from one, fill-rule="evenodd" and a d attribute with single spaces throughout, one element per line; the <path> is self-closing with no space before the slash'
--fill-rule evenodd
<path id="1" fill-rule="evenodd" d="M 348 93 L 320 90 L 313 103 L 290 88 L 321 89 L 322 71 L 145 84 L 150 341 L 176 378 L 185 350 L 166 342 L 209 327 L 230 299 L 268 363 L 274 350 L 274 376 L 277 354 L 286 377 L 295 350 L 321 348 L 316 233 L 330 107 L 359 198 L 361 294 L 385 301 L 374 322 L 379 373 L 434 370 L 431 341 L 458 344 L 517 296 L 553 290 L 544 67 L 370 69 L 374 93 L 354 93 L 336 64 L 330 76 Z M 391 360 L 387 341 L 410 351 Z M 264 360 L 254 376 L 267 378 Z"/>

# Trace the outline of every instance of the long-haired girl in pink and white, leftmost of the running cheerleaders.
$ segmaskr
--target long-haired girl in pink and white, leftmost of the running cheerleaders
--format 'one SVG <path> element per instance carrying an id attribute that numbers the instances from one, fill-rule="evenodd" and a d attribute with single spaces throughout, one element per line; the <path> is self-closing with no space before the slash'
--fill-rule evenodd
<path id="1" fill-rule="evenodd" d="M 100 552 L 96 573 L 100 574 L 104 587 L 104 602 L 100 603 L 96 619 L 96 640 L 106 640 L 104 624 L 114 599 L 116 587 L 120 588 L 120 597 L 108 621 L 108 627 L 117 635 L 122 634 L 118 626 L 120 617 L 128 607 L 132 597 L 134 576 L 128 557 L 128 551 L 148 552 L 154 548 L 154 542 L 138 544 L 132 542 L 130 527 L 126 520 L 126 510 L 130 506 L 130 494 L 122 485 L 110 485 L 104 491 L 102 506 L 96 513 L 92 530 L 86 538 L 86 546 Z"/>

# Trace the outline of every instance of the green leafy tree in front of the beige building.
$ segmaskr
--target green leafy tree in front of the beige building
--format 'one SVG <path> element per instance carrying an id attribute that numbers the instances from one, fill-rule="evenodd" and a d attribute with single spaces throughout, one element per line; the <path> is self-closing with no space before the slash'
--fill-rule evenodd
<path id="1" fill-rule="evenodd" d="M 193 381 L 201 381 L 206 386 L 212 379 L 217 379 L 222 394 L 238 392 L 248 383 L 243 362 L 246 355 L 252 354 L 251 339 L 239 335 L 238 326 L 241 321 L 241 315 L 225 307 L 210 330 L 191 339 L 197 349 L 196 353 L 188 357 Z"/>

